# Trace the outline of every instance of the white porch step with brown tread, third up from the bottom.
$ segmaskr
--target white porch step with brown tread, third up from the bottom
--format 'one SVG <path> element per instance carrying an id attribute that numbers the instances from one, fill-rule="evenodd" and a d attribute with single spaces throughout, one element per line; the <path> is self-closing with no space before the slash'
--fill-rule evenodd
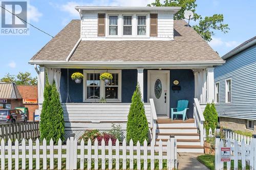
<path id="1" fill-rule="evenodd" d="M 170 135 L 174 135 L 176 139 L 199 139 L 198 133 L 156 133 L 156 139 L 169 139 Z"/>

